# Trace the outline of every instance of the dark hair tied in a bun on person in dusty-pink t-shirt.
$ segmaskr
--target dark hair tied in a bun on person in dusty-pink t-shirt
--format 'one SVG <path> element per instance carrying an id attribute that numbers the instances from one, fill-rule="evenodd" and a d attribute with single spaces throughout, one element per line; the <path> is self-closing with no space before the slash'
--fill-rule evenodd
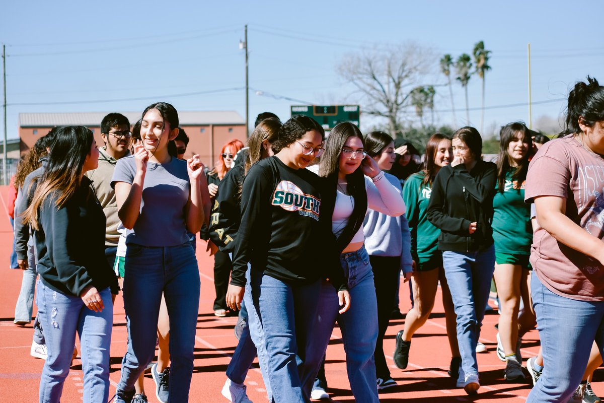
<path id="1" fill-rule="evenodd" d="M 579 120 L 589 127 L 604 121 L 604 86 L 590 76 L 587 83 L 577 82 L 568 94 L 566 134 L 581 132 Z"/>

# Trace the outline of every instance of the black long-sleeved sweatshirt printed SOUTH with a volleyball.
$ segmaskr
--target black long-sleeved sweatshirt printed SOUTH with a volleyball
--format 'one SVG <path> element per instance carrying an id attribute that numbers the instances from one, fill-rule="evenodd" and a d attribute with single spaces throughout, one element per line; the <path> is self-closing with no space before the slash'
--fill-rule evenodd
<path id="1" fill-rule="evenodd" d="M 286 283 L 310 283 L 329 277 L 344 289 L 335 256 L 331 218 L 320 219 L 320 179 L 307 169 L 292 169 L 276 156 L 249 169 L 243 181 L 241 222 L 235 240 L 231 284 L 245 285 L 252 270 Z"/>

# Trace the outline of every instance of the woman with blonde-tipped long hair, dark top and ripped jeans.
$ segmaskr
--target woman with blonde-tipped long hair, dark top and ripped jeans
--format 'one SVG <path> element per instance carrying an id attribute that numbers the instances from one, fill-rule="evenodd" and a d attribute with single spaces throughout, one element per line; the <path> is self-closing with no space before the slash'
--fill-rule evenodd
<path id="1" fill-rule="evenodd" d="M 98 149 L 83 126 L 60 127 L 23 214 L 33 229 L 40 285 L 37 306 L 47 359 L 40 403 L 59 402 L 69 373 L 76 332 L 82 346 L 83 401 L 109 398 L 111 291 L 117 277 L 104 259 L 105 216 L 84 173 L 96 169 Z M 85 234 L 86 236 L 83 236 Z"/>

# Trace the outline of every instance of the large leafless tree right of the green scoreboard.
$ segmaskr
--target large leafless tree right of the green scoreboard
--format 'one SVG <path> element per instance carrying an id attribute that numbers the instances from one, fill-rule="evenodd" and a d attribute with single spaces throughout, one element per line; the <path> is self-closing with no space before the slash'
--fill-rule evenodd
<path id="1" fill-rule="evenodd" d="M 364 114 L 386 118 L 393 137 L 402 131 L 411 92 L 431 71 L 432 50 L 407 43 L 352 53 L 339 63 L 338 73 L 356 87 Z"/>

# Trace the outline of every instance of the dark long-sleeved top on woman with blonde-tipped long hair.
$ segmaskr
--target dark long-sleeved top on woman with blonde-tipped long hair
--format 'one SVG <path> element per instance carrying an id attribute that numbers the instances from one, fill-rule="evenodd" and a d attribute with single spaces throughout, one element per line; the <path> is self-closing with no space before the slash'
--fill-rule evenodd
<path id="1" fill-rule="evenodd" d="M 78 297 L 87 286 L 118 290 L 117 277 L 104 255 L 105 214 L 90 184 L 84 176 L 59 209 L 56 193 L 49 195 L 39 210 L 40 229 L 34 231 L 42 281 L 54 291 Z"/>

